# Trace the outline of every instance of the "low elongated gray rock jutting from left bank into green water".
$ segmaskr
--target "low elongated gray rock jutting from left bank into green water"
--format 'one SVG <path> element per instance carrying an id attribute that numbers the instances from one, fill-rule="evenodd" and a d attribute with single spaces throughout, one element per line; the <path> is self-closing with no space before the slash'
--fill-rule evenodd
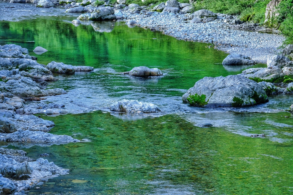
<path id="1" fill-rule="evenodd" d="M 60 73 L 60 74 L 73 74 L 75 71 L 92 71 L 93 67 L 90 66 L 73 66 L 73 65 L 67 65 L 63 62 L 55 62 L 52 61 L 48 63 L 46 66 L 49 70 L 51 70 L 53 73 Z"/>

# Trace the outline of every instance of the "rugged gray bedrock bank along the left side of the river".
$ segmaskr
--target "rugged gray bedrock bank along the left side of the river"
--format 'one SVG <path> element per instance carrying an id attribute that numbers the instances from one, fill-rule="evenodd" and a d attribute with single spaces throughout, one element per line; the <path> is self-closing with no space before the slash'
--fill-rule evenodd
<path id="1" fill-rule="evenodd" d="M 52 72 L 74 73 L 91 71 L 92 67 L 72 66 L 51 62 L 45 66 L 30 56 L 28 50 L 15 44 L 0 46 L 0 141 L 17 147 L 50 146 L 78 142 L 68 135 L 48 133 L 54 122 L 35 115 L 66 114 L 64 105 L 53 103 L 31 103 L 26 100 L 41 100 L 43 96 L 65 94 L 64 89 L 46 89 L 47 82 L 56 81 Z M 47 68 L 46 68 L 47 67 Z M 43 158 L 25 157 L 25 151 L 0 148 L 0 191 L 11 194 L 42 185 L 50 177 L 68 174 Z M 47 178 L 47 179 L 46 179 Z M 17 180 L 15 180 L 17 179 Z"/>

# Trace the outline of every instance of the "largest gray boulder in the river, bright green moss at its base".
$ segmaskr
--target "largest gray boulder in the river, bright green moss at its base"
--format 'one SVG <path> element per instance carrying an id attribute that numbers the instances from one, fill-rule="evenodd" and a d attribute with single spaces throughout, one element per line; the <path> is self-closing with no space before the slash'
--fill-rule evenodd
<path id="1" fill-rule="evenodd" d="M 268 101 L 263 88 L 239 75 L 204 77 L 182 96 L 184 102 L 202 107 L 243 107 Z"/>

